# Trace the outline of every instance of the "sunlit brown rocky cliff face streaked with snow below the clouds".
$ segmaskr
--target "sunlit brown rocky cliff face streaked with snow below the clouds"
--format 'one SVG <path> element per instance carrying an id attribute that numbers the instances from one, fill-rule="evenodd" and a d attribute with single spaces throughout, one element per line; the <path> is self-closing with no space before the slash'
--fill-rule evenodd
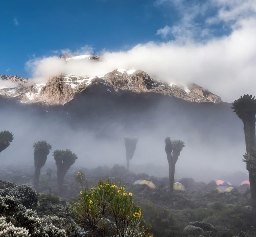
<path id="1" fill-rule="evenodd" d="M 93 60 L 98 60 L 98 58 L 94 59 L 93 56 Z M 76 94 L 86 90 L 88 86 L 97 86 L 97 84 L 105 85 L 109 93 L 114 91 L 128 91 L 137 94 L 154 92 L 164 96 L 174 96 L 186 101 L 222 102 L 219 96 L 212 94 L 208 90 L 204 90 L 196 84 L 182 88 L 175 84 L 153 80 L 146 72 L 139 70 L 117 69 L 101 78 L 60 75 L 50 78 L 46 84 L 30 84 L 27 78 L 18 76 L 0 75 L 0 80 L 10 80 L 17 84 L 14 88 L 2 88 L 0 95 L 17 98 L 21 103 L 42 102 L 48 105 L 64 105 L 71 101 Z"/>

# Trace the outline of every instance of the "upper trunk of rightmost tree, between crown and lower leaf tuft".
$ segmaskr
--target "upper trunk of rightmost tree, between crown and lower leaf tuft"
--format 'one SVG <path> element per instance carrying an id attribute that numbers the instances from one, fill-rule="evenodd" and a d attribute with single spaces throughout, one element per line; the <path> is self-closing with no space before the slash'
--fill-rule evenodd
<path id="1" fill-rule="evenodd" d="M 256 135 L 255 135 L 255 116 L 243 120 L 244 122 L 244 138 L 246 153 L 253 153 L 253 148 L 256 148 Z"/>

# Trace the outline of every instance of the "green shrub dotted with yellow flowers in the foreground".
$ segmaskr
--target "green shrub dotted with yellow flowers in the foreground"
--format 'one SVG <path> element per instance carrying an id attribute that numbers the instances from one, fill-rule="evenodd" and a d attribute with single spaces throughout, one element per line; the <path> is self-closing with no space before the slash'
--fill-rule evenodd
<path id="1" fill-rule="evenodd" d="M 133 202 L 132 193 L 124 187 L 101 180 L 95 187 L 80 191 L 72 203 L 73 218 L 90 236 L 150 236 L 148 229 L 141 229 L 141 209 Z"/>

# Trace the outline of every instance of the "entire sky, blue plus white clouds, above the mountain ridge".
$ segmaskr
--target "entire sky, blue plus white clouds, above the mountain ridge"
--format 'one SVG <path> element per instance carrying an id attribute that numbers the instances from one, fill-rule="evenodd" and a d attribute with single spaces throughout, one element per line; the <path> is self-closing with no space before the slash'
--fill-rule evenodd
<path id="1" fill-rule="evenodd" d="M 46 83 L 139 69 L 233 101 L 255 94 L 255 26 L 255 0 L 0 1 L 0 74 Z M 102 57 L 67 63 L 64 54 Z"/>

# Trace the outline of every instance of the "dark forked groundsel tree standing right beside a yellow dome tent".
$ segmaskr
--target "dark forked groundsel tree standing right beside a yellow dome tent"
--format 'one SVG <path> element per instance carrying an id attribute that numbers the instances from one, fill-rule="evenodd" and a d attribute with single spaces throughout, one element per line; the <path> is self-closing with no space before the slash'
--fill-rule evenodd
<path id="1" fill-rule="evenodd" d="M 179 158 L 181 150 L 185 147 L 184 141 L 181 140 L 171 140 L 170 137 L 165 139 L 166 147 L 166 156 L 169 163 L 169 184 L 171 191 L 173 191 L 173 182 L 175 174 L 175 164 Z"/>

